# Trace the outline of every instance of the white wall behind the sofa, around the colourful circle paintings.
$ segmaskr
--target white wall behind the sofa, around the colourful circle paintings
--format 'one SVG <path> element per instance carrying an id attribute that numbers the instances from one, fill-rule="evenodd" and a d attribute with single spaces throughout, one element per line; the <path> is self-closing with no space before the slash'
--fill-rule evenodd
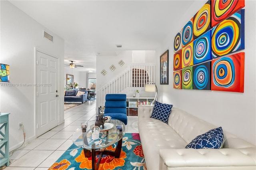
<path id="1" fill-rule="evenodd" d="M 160 56 L 169 49 L 169 85 L 159 85 L 160 61 L 156 57 L 156 78 L 158 83 L 158 101 L 171 103 L 189 113 L 200 117 L 224 130 L 256 144 L 256 1 L 245 1 L 245 69 L 244 93 L 224 91 L 186 90 L 173 88 L 173 40 L 176 33 L 205 4 L 206 1 L 195 1 L 194 5 L 175 23 L 170 34 L 158 48 Z M 182 10 L 184 11 L 184 10 Z M 169 20 L 171 22 L 171 19 Z"/>

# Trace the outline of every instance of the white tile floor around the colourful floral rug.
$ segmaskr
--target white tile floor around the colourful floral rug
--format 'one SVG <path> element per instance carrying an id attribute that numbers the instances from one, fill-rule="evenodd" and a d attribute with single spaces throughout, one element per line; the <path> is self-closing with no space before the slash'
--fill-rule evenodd
<path id="1" fill-rule="evenodd" d="M 64 111 L 65 123 L 42 134 L 10 156 L 11 164 L 4 170 L 48 170 L 72 144 L 71 136 L 80 123 L 95 119 L 96 101 Z M 138 118 L 128 117 L 127 133 L 138 133 Z"/>

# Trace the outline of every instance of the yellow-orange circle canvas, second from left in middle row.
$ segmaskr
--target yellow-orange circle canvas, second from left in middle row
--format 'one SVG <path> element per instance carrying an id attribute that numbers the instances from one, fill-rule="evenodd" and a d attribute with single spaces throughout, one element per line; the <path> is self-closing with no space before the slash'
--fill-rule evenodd
<path id="1" fill-rule="evenodd" d="M 182 48 L 182 68 L 193 65 L 193 42 Z"/>

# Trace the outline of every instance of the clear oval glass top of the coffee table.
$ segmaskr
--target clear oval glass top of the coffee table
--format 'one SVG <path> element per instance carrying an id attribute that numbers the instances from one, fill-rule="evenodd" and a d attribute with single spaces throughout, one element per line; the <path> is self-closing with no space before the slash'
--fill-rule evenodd
<path id="1" fill-rule="evenodd" d="M 104 129 L 100 126 L 99 138 L 96 140 L 92 139 L 92 130 L 95 121 L 88 121 L 86 132 L 82 132 L 82 128 L 78 128 L 73 136 L 72 142 L 84 149 L 91 150 L 92 144 L 95 143 L 95 149 L 106 148 L 123 138 L 125 134 L 125 125 L 122 121 L 110 119 L 108 123 L 104 123 Z"/>

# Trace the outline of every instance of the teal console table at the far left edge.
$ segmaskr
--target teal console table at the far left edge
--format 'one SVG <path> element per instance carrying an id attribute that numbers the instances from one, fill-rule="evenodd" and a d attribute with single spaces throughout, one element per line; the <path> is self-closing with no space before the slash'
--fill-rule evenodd
<path id="1" fill-rule="evenodd" d="M 0 166 L 9 166 L 9 114 L 0 115 Z"/>

